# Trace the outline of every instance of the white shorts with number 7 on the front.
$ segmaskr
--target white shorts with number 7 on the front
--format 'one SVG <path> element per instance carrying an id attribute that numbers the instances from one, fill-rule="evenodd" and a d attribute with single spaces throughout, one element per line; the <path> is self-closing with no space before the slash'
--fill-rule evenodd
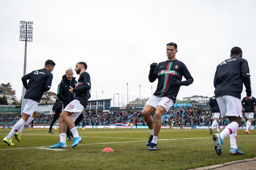
<path id="1" fill-rule="evenodd" d="M 150 99 L 147 100 L 145 105 L 150 105 L 154 108 L 157 109 L 157 106 L 163 106 L 168 112 L 170 108 L 173 106 L 174 101 L 169 99 L 168 97 L 156 97 L 156 96 L 151 96 Z"/>

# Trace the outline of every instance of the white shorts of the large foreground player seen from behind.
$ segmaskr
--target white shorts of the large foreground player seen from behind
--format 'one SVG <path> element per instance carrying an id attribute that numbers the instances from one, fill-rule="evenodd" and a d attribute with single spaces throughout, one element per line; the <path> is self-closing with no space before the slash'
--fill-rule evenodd
<path id="1" fill-rule="evenodd" d="M 225 115 L 242 117 L 242 103 L 239 98 L 224 95 L 217 97 L 216 100 L 220 108 L 221 117 Z"/>

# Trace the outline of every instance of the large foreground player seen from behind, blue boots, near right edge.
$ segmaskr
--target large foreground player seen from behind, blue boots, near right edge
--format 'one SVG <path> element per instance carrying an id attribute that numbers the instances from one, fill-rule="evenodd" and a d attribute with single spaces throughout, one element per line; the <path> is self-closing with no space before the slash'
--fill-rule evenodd
<path id="1" fill-rule="evenodd" d="M 231 59 L 222 61 L 216 69 L 214 76 L 215 97 L 220 108 L 221 117 L 228 116 L 231 122 L 221 133 L 213 135 L 215 150 L 218 155 L 222 152 L 222 140 L 230 137 L 231 155 L 243 154 L 237 147 L 237 129 L 241 125 L 242 103 L 241 93 L 243 84 L 246 87 L 247 99 L 252 98 L 251 80 L 248 62 L 242 58 L 239 47 L 231 49 Z"/>

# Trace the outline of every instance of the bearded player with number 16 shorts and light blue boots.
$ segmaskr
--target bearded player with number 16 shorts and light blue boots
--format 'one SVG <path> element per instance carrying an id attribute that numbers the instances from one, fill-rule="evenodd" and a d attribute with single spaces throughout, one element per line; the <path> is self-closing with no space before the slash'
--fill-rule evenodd
<path id="1" fill-rule="evenodd" d="M 75 71 L 80 76 L 76 88 L 69 86 L 70 93 L 75 93 L 74 100 L 71 101 L 61 112 L 59 117 L 60 141 L 58 141 L 56 145 L 50 146 L 50 148 L 67 148 L 67 126 L 69 127 L 74 137 L 72 147 L 75 147 L 79 145 L 80 142 L 82 142 L 82 138 L 78 135 L 74 121 L 84 111 L 87 106 L 88 99 L 91 97 L 91 79 L 90 75 L 86 72 L 86 69 L 87 64 L 85 62 L 79 62 L 76 64 Z"/>

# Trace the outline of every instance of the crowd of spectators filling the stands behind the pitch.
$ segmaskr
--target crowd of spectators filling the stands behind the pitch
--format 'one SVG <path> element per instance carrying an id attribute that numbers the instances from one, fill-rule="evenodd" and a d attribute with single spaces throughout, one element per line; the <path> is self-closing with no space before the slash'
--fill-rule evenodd
<path id="1" fill-rule="evenodd" d="M 152 114 L 154 118 L 154 113 Z M 39 113 L 36 124 L 50 124 L 52 121 L 52 114 Z M 20 115 L 3 114 L 0 117 L 0 124 L 14 124 L 20 119 Z M 210 108 L 187 108 L 187 109 L 171 109 L 168 113 L 162 116 L 163 125 L 211 125 L 214 120 Z M 246 125 L 247 118 L 243 114 L 241 120 L 242 125 Z M 145 120 L 142 116 L 142 110 L 139 111 L 112 111 L 112 112 L 98 112 L 98 113 L 84 113 L 84 119 L 80 122 L 80 125 L 110 125 L 114 123 L 134 123 L 144 125 Z M 57 122 L 56 122 L 57 123 Z M 227 117 L 219 119 L 219 125 L 227 125 L 229 120 Z M 256 124 L 254 117 L 253 125 Z"/>

